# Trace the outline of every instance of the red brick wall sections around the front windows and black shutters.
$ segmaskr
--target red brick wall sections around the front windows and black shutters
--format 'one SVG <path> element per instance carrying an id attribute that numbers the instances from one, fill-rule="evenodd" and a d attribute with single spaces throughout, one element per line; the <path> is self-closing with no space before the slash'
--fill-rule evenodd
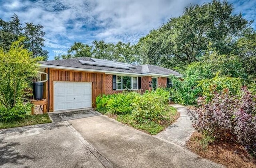
<path id="1" fill-rule="evenodd" d="M 149 87 L 150 83 L 152 81 L 151 76 L 142 76 L 141 77 L 141 90 L 142 92 L 145 92 L 145 90 L 152 90 L 152 87 Z M 166 87 L 167 79 L 164 77 L 158 77 L 158 87 Z M 105 74 L 104 79 L 104 94 L 114 94 L 114 93 L 122 93 L 122 90 L 113 90 L 113 75 L 112 74 Z M 152 83 L 151 83 L 152 86 Z"/>

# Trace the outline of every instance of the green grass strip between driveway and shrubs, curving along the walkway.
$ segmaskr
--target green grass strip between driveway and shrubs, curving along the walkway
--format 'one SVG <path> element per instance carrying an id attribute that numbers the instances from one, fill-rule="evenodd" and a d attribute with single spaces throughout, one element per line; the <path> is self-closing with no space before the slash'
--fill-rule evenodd
<path id="1" fill-rule="evenodd" d="M 108 113 L 106 108 L 97 109 L 102 114 L 107 115 L 110 118 L 116 119 L 123 124 L 126 124 L 130 127 L 134 127 L 140 131 L 144 131 L 145 133 L 149 133 L 151 135 L 156 135 L 160 133 L 163 129 L 171 125 L 176 119 L 180 116 L 177 112 L 176 108 L 170 107 L 170 120 L 169 121 L 161 121 L 161 122 L 154 122 L 154 121 L 145 121 L 143 123 L 137 122 L 131 113 L 128 114 L 111 114 Z"/>

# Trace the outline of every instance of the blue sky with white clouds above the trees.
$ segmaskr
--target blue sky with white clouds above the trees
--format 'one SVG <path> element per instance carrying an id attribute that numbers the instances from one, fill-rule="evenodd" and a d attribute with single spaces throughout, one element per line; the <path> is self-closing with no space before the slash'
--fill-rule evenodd
<path id="1" fill-rule="evenodd" d="M 75 42 L 136 43 L 169 18 L 182 14 L 186 6 L 209 0 L 0 0 L 0 18 L 16 13 L 20 22 L 44 26 L 49 59 L 66 53 Z M 256 16 L 256 0 L 228 0 L 234 13 L 247 20 Z M 256 27 L 256 23 L 253 23 Z"/>

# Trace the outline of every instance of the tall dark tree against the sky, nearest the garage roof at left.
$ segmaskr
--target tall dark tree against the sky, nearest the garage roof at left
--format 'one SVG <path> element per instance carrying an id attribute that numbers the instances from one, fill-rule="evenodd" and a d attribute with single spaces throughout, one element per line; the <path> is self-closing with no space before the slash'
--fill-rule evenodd
<path id="1" fill-rule="evenodd" d="M 44 60 L 48 59 L 48 51 L 42 49 L 44 47 L 44 34 L 42 31 L 44 28 L 42 25 L 34 25 L 33 23 L 25 23 L 24 34 L 28 38 L 26 41 L 26 48 L 32 52 L 33 58 L 35 57 L 43 57 Z"/>

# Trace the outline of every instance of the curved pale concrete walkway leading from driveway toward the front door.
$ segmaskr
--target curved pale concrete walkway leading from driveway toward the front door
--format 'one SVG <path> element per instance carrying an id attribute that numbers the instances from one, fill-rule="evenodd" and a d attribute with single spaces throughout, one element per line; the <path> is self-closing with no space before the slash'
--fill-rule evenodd
<path id="1" fill-rule="evenodd" d="M 194 131 L 192 122 L 186 113 L 186 107 L 178 104 L 172 106 L 180 113 L 180 117 L 174 124 L 158 133 L 156 137 L 160 137 L 177 145 L 185 146 L 186 141 L 188 141 Z"/>

